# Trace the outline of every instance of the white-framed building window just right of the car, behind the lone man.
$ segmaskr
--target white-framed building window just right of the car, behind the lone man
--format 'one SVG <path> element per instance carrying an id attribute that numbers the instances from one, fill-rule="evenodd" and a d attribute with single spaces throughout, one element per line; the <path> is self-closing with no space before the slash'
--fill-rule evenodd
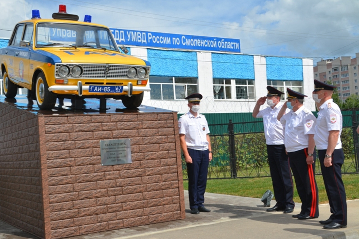
<path id="1" fill-rule="evenodd" d="M 152 100 L 178 100 L 198 92 L 197 78 L 150 76 Z"/>

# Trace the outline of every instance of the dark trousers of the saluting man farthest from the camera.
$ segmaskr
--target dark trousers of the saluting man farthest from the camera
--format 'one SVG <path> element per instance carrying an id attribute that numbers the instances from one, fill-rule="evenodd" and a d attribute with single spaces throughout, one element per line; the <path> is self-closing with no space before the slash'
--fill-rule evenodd
<path id="1" fill-rule="evenodd" d="M 267 144 L 267 154 L 276 205 L 283 210 L 286 207 L 294 208 L 292 173 L 284 144 Z"/>

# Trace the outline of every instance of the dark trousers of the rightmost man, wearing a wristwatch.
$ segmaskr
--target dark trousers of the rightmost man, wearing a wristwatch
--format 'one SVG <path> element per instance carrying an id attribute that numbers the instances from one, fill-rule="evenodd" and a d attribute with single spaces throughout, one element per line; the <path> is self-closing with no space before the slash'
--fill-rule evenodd
<path id="1" fill-rule="evenodd" d="M 330 218 L 341 225 L 347 224 L 346 195 L 341 179 L 341 166 L 344 163 L 343 149 L 335 149 L 332 154 L 332 166 L 324 166 L 326 149 L 318 150 L 320 167 L 330 205 Z"/>

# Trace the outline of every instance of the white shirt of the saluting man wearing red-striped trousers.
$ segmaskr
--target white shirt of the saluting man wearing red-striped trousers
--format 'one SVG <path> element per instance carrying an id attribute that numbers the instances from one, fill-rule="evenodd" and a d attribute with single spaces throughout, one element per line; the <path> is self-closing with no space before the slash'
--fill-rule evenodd
<path id="1" fill-rule="evenodd" d="M 285 124 L 284 146 L 287 152 L 308 148 L 308 134 L 315 133 L 316 120 L 313 113 L 304 106 L 282 116 L 280 122 Z"/>

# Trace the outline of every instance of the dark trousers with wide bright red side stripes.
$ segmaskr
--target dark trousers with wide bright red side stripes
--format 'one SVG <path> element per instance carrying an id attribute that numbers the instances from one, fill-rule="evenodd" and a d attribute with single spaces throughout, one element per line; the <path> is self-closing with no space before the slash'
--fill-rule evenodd
<path id="1" fill-rule="evenodd" d="M 307 164 L 308 148 L 288 153 L 288 156 L 298 195 L 300 201 L 302 201 L 300 213 L 317 218 L 319 216 L 319 198 L 318 186 L 314 175 L 316 151 L 314 150 L 313 153 L 313 164 Z"/>

